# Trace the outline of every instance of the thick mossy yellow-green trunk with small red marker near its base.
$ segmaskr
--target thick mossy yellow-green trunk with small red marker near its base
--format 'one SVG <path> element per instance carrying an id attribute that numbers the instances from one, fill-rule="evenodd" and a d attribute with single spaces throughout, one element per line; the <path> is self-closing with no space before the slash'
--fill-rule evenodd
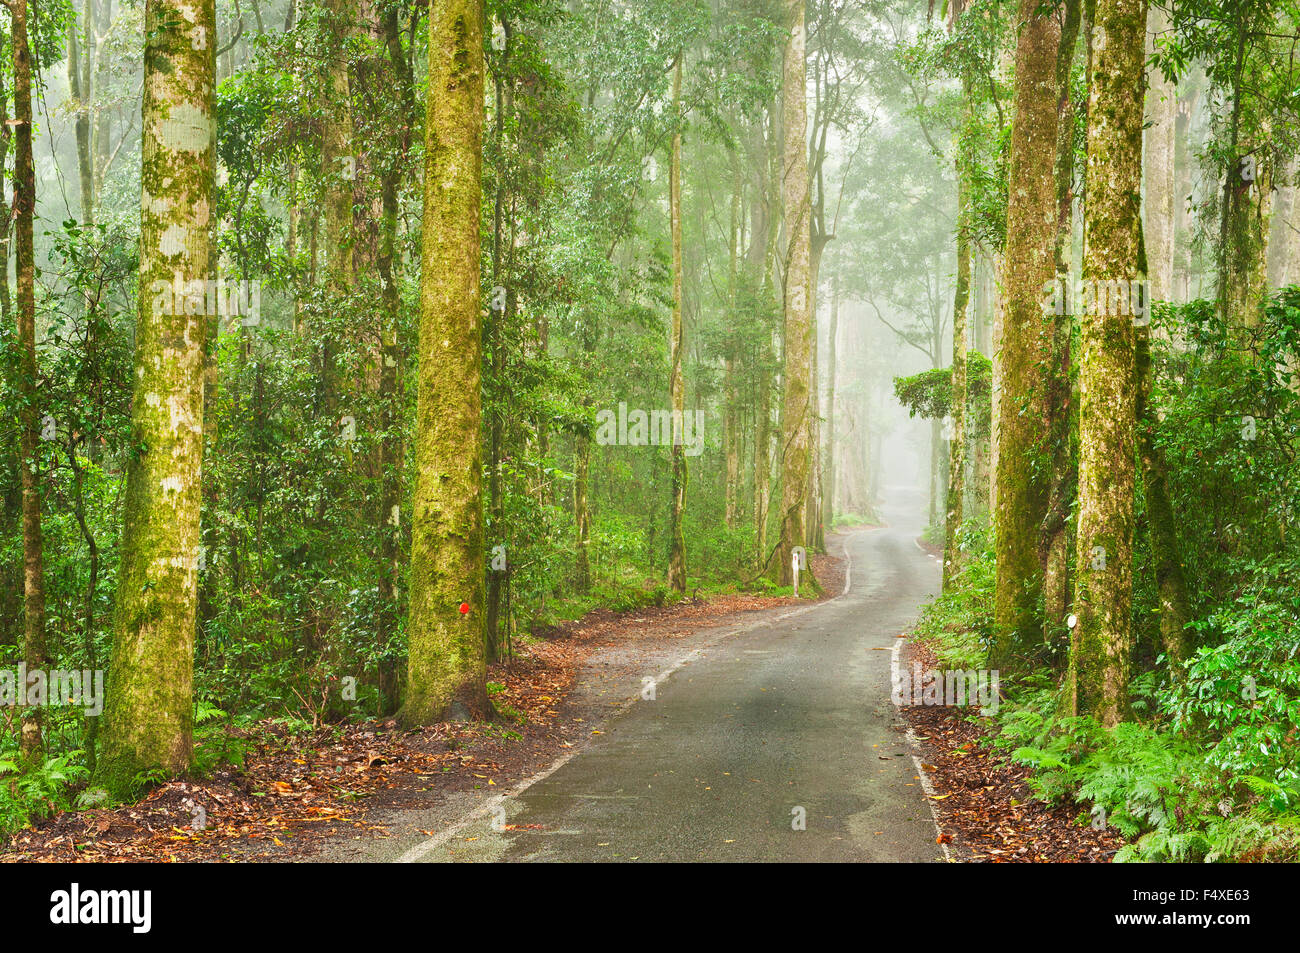
<path id="1" fill-rule="evenodd" d="M 482 23 L 482 0 L 432 3 L 407 724 L 490 710 L 478 433 Z"/>

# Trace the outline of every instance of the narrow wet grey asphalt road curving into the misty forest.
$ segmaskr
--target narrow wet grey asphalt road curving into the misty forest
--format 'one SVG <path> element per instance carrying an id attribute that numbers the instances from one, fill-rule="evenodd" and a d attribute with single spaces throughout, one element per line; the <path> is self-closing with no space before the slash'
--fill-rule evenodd
<path id="1" fill-rule="evenodd" d="M 894 640 L 939 585 L 905 512 L 845 537 L 844 595 L 705 649 L 558 770 L 400 859 L 942 861 L 889 693 Z"/>

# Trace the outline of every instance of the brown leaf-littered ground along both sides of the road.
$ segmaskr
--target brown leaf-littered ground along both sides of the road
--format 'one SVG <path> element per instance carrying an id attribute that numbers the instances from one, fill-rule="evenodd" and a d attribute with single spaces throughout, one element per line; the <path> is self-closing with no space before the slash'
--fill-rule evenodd
<path id="1" fill-rule="evenodd" d="M 829 547 L 842 551 L 835 538 Z M 840 594 L 844 560 L 810 559 L 823 599 Z M 727 627 L 798 602 L 729 594 L 623 614 L 597 610 L 490 667 L 489 681 L 500 686 L 497 722 L 422 731 L 364 722 L 308 733 L 261 722 L 248 733 L 242 767 L 172 781 L 133 805 L 58 813 L 0 845 L 0 861 L 358 859 L 368 844 L 391 836 L 386 822 L 400 816 L 410 824 L 412 811 L 417 829 L 432 836 L 485 796 L 510 790 L 602 735 L 602 724 L 637 697 L 642 673 L 698 647 L 699 633 L 716 641 Z M 909 666 L 932 663 L 923 645 L 907 649 Z M 911 707 L 904 716 L 935 788 L 940 842 L 954 859 L 1109 861 L 1119 846 L 1113 833 L 1076 824 L 1079 806 L 1035 801 L 1027 771 L 989 753 L 984 729 L 961 709 Z"/>

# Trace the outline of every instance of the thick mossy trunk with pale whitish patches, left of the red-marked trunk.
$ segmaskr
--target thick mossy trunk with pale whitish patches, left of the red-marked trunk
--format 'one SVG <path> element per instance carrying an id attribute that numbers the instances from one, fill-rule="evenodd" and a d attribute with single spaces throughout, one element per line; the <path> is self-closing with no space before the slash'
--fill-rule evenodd
<path id="1" fill-rule="evenodd" d="M 144 9 L 140 280 L 125 524 L 99 783 L 188 767 L 194 719 L 204 345 L 213 278 L 216 5 Z"/>

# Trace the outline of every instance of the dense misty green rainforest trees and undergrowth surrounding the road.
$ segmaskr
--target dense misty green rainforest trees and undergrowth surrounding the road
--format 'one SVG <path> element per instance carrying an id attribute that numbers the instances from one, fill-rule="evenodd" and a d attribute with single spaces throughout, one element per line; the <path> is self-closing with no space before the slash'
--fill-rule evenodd
<path id="1" fill-rule="evenodd" d="M 0 832 L 491 718 L 558 621 L 789 594 L 914 482 L 920 634 L 1044 797 L 1300 853 L 1294 0 L 0 29 Z"/>

